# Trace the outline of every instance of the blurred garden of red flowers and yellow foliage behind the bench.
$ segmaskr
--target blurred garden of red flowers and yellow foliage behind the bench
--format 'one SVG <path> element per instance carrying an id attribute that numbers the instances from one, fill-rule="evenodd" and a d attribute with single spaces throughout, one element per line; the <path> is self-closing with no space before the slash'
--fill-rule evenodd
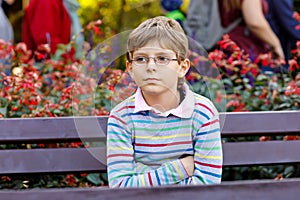
<path id="1" fill-rule="evenodd" d="M 159 1 L 79 2 L 81 9 L 78 14 L 84 27 L 86 42 L 92 50 L 87 50 L 81 57 L 75 57 L 75 46 L 71 42 L 61 45 L 50 59 L 45 59 L 44 54 L 38 53 L 38 62 L 29 59 L 30 52 L 20 43 L 20 22 L 26 1 L 17 0 L 8 10 L 14 25 L 16 43 L 0 43 L 0 57 L 7 61 L 6 65 L 1 66 L 2 71 L 7 67 L 12 68 L 11 75 L 2 73 L 0 76 L 1 117 L 107 115 L 114 105 L 134 92 L 136 86 L 124 71 L 124 55 L 118 56 L 118 52 L 122 52 L 120 41 L 123 41 L 120 40 L 123 35 L 118 34 L 133 29 L 149 17 L 165 14 Z M 299 4 L 300 1 L 297 0 L 298 10 Z M 260 68 L 264 66 L 277 69 L 282 66 L 270 54 L 261 55 L 252 62 L 225 36 L 215 50 L 205 55 L 204 60 L 197 51 L 190 53 L 194 67 L 186 78 L 195 92 L 212 99 L 222 112 L 299 110 L 300 42 L 292 54 L 288 72 L 279 70 L 278 73 L 263 73 Z M 252 139 L 294 140 L 299 137 Z M 45 145 L 76 148 L 78 145 L 94 144 L 18 144 L 0 145 L 0 149 L 43 148 Z M 299 176 L 299 165 L 264 166 L 224 169 L 223 180 Z M 0 188 L 90 187 L 106 184 L 106 174 L 3 176 Z"/>

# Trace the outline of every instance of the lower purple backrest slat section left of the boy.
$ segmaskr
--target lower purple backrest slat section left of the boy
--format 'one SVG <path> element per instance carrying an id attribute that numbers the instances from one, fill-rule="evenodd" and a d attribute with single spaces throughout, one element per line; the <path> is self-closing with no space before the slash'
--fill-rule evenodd
<path id="1" fill-rule="evenodd" d="M 0 150 L 0 174 L 105 172 L 106 148 Z"/>

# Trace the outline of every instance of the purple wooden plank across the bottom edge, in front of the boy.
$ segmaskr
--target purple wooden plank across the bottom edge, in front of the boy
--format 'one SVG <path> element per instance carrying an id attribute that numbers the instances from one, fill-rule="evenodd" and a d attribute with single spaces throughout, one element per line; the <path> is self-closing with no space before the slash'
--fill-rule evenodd
<path id="1" fill-rule="evenodd" d="M 5 200 L 297 200 L 300 196 L 300 179 L 282 181 L 235 181 L 219 185 L 168 186 L 156 188 L 65 188 L 35 190 L 2 190 L 0 199 Z"/>

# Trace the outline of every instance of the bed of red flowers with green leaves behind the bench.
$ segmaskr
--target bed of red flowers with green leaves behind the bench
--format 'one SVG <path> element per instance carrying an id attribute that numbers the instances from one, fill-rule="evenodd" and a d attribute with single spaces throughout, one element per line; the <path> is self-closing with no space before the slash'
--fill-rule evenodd
<path id="1" fill-rule="evenodd" d="M 111 51 L 108 46 L 101 48 L 105 53 Z M 74 52 L 75 49 L 70 43 L 61 46 L 58 53 L 50 59 L 41 52 L 35 52 L 32 58 L 32 52 L 23 43 L 13 46 L 0 40 L 0 117 L 108 115 L 114 105 L 134 93 L 136 86 L 128 73 L 122 70 L 122 64 L 115 68 L 99 64 L 95 68 L 95 58 L 77 59 Z M 273 60 L 270 54 L 261 55 L 252 62 L 228 36 L 224 36 L 217 49 L 209 52 L 208 60 L 205 61 L 209 64 L 205 65 L 206 69 L 201 68 L 202 57 L 196 52 L 190 53 L 190 59 L 193 67 L 186 77 L 187 81 L 195 92 L 211 98 L 219 111 L 299 109 L 300 42 L 297 43 L 297 49 L 293 50 L 288 72 L 278 70 L 282 63 Z M 114 64 L 117 65 L 118 62 Z M 271 66 L 278 72 L 263 73 L 265 66 Z M 4 73 L 8 68 L 11 68 L 11 75 Z M 201 70 L 207 72 L 201 73 Z M 210 76 L 208 72 L 211 70 L 218 72 L 214 74 L 216 76 Z M 257 139 L 291 140 L 299 137 Z M 41 148 L 42 145 L 1 145 L 2 149 L 36 147 Z M 245 177 L 281 178 L 299 174 L 299 166 L 241 168 L 236 171 L 224 170 L 224 180 Z M 105 177 L 105 174 L 69 174 L 22 179 L 3 176 L 0 188 L 90 187 L 106 184 Z"/>

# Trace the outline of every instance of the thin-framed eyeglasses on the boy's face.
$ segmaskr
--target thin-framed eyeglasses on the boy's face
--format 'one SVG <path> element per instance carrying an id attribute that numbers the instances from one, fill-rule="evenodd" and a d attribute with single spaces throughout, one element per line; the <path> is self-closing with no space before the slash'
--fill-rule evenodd
<path id="1" fill-rule="evenodd" d="M 143 66 L 146 66 L 150 62 L 151 58 L 154 60 L 154 63 L 158 66 L 166 66 L 171 61 L 178 61 L 177 58 L 167 58 L 165 56 L 157 56 L 157 57 L 139 56 L 130 61 L 136 66 L 143 67 Z"/>

